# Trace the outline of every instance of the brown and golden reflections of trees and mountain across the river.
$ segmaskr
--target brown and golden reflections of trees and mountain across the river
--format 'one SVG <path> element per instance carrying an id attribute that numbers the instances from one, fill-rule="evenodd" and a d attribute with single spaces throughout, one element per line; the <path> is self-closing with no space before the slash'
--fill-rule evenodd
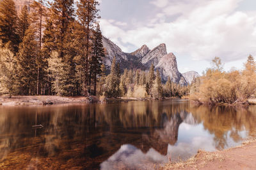
<path id="1" fill-rule="evenodd" d="M 228 132 L 234 141 L 241 139 L 239 132 L 244 129 L 255 134 L 253 107 L 249 110 L 209 109 L 205 106 L 190 108 L 189 103 L 137 101 L 1 108 L 0 159 L 12 158 L 12 153 L 15 157 L 27 154 L 28 159 L 19 160 L 19 168 L 28 167 L 36 157 L 38 167 L 52 164 L 59 169 L 76 166 L 77 169 L 99 169 L 102 161 L 125 144 L 134 145 L 144 153 L 154 148 L 166 155 L 168 144 L 177 142 L 182 122 L 202 122 L 205 129 L 214 134 L 216 147 L 223 148 L 227 145 Z M 35 137 L 31 125 L 35 124 L 36 112 L 38 124 L 44 128 L 39 129 Z"/>

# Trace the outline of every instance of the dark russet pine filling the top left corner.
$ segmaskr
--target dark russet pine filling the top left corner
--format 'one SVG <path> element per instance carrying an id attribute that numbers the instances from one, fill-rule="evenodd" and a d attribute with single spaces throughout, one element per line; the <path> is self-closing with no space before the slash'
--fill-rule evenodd
<path id="1" fill-rule="evenodd" d="M 0 40 L 3 44 L 10 43 L 13 51 L 18 52 L 20 39 L 17 34 L 17 11 L 13 0 L 0 1 Z"/>

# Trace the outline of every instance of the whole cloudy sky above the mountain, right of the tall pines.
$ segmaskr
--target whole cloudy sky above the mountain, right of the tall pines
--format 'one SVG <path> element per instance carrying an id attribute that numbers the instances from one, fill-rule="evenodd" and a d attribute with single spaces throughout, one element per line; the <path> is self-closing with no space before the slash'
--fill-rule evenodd
<path id="1" fill-rule="evenodd" d="M 226 71 L 256 56 L 255 0 L 100 0 L 102 34 L 133 52 L 165 43 L 180 73 L 202 73 L 220 57 Z"/>

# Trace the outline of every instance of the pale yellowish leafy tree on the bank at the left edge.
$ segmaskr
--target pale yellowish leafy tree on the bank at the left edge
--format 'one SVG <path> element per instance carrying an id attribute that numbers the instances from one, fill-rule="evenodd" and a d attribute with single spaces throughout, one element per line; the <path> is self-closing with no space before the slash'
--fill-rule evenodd
<path id="1" fill-rule="evenodd" d="M 0 46 L 3 46 L 0 43 Z M 10 98 L 18 94 L 17 60 L 6 47 L 0 47 L 0 94 L 9 94 Z"/>

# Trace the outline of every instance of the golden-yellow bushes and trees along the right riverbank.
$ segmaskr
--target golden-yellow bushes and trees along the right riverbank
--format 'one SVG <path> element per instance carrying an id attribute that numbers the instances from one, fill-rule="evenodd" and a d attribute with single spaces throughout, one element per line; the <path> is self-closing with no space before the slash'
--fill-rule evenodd
<path id="1" fill-rule="evenodd" d="M 255 95 L 255 80 L 256 64 L 252 55 L 248 57 L 241 71 L 223 71 L 221 59 L 215 57 L 212 67 L 193 81 L 190 98 L 205 104 L 244 104 Z"/>

